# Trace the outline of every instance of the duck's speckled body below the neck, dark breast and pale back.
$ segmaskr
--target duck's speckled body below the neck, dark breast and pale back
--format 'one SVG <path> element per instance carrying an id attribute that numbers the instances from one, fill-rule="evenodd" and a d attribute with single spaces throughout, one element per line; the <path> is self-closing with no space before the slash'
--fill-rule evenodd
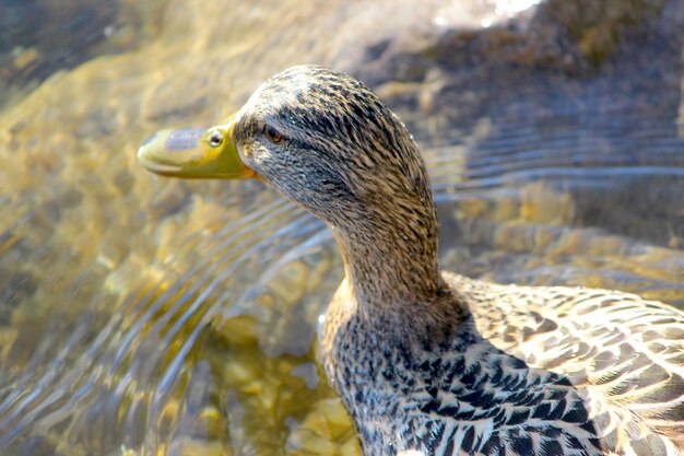
<path id="1" fill-rule="evenodd" d="M 364 454 L 683 454 L 676 309 L 620 292 L 444 277 L 453 294 L 438 305 L 455 307 L 445 315 L 472 313 L 427 338 L 374 327 L 344 284 L 331 303 L 325 365 Z"/>

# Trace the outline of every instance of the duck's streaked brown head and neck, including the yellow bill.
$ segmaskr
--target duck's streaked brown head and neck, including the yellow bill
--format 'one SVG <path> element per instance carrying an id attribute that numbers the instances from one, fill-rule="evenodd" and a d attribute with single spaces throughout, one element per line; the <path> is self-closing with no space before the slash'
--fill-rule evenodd
<path id="1" fill-rule="evenodd" d="M 354 78 L 291 68 L 208 130 L 164 130 L 138 153 L 153 173 L 258 178 L 322 219 L 362 301 L 417 301 L 440 283 L 437 219 L 411 135 Z"/>

